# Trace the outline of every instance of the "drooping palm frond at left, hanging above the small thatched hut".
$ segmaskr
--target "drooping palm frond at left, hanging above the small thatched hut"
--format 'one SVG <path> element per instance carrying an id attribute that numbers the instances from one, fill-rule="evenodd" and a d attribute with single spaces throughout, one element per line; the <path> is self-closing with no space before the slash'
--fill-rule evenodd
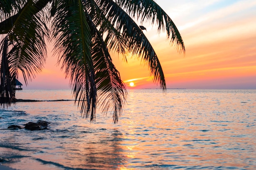
<path id="1" fill-rule="evenodd" d="M 38 4 L 34 8 L 31 6 L 34 6 L 32 0 L 18 13 L 8 33 L 9 46 L 12 46 L 8 54 L 11 72 L 14 74 L 21 70 L 26 84 L 27 79 L 34 78 L 35 73 L 43 68 L 46 56 L 45 37 L 49 36 L 47 26 L 37 15 Z"/>

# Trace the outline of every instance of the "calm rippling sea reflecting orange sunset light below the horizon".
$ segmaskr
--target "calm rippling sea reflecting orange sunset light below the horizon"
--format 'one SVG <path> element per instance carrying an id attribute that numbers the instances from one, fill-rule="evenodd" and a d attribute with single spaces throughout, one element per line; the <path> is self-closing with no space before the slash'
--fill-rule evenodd
<path id="1" fill-rule="evenodd" d="M 118 124 L 101 111 L 81 118 L 71 90 L 16 98 L 45 101 L 0 109 L 0 163 L 11 168 L 256 169 L 256 90 L 129 90 Z M 7 130 L 37 120 L 49 128 Z"/>

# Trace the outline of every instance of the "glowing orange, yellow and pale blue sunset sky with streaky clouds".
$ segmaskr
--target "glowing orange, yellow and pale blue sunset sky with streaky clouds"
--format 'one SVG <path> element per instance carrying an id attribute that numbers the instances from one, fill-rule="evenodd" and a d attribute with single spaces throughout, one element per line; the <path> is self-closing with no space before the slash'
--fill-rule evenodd
<path id="1" fill-rule="evenodd" d="M 179 53 L 157 34 L 155 25 L 142 23 L 165 74 L 166 88 L 256 89 L 256 1 L 255 0 L 155 0 L 177 26 L 185 54 Z M 138 21 L 140 24 L 140 21 Z M 69 89 L 69 79 L 48 58 L 42 72 L 23 89 Z M 160 88 L 138 59 L 113 55 L 113 62 L 128 89 Z M 130 86 L 130 82 L 134 86 Z"/>

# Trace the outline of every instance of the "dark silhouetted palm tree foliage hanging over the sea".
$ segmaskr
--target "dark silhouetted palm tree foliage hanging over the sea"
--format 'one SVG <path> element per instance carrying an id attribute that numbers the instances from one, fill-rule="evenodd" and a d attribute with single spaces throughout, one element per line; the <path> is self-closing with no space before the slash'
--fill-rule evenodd
<path id="1" fill-rule="evenodd" d="M 96 105 L 117 122 L 126 87 L 110 52 L 127 52 L 148 64 L 154 82 L 166 89 L 164 73 L 150 42 L 134 20 L 157 24 L 180 52 L 184 43 L 171 18 L 153 0 L 0 0 L 0 102 L 15 101 L 13 80 L 26 85 L 45 63 L 46 41 L 54 44 L 70 78 L 81 114 L 95 120 Z"/>

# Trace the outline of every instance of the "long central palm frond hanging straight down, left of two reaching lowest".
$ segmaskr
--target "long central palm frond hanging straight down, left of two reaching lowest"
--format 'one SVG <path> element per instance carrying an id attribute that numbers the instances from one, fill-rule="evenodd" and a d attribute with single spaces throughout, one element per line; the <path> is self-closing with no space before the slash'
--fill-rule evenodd
<path id="1" fill-rule="evenodd" d="M 55 54 L 63 62 L 66 76 L 83 116 L 95 120 L 97 92 L 90 54 L 92 36 L 81 0 L 60 0 L 54 15 Z"/>

